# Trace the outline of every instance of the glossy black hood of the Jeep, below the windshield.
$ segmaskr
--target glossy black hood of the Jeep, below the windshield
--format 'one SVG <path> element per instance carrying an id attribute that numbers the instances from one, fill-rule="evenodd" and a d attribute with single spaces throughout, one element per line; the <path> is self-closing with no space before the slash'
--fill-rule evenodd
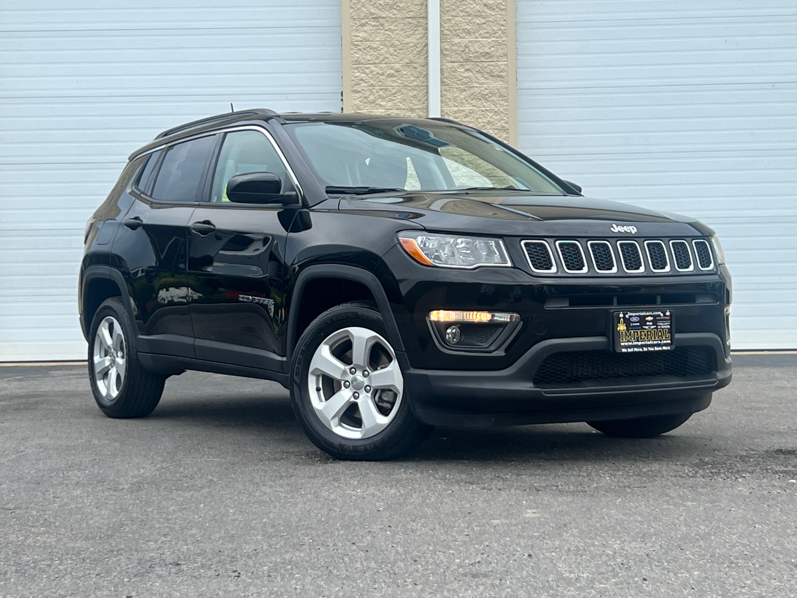
<path id="1" fill-rule="evenodd" d="M 427 230 L 500 235 L 638 236 L 711 234 L 693 218 L 572 195 L 405 193 L 344 198 L 340 210 L 410 220 Z"/>

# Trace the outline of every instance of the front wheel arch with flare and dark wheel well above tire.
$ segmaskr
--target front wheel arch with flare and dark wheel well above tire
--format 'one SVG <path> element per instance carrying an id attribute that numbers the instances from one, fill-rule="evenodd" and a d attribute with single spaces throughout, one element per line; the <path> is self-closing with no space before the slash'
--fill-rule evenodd
<path id="1" fill-rule="evenodd" d="M 327 291 L 323 298 L 320 301 L 307 301 L 309 295 L 306 293 L 319 289 Z M 302 332 L 316 317 L 327 309 L 350 301 L 374 301 L 384 318 L 388 340 L 397 351 L 404 351 L 387 293 L 374 273 L 356 266 L 317 265 L 302 270 L 293 287 L 286 346 L 288 362 Z"/>

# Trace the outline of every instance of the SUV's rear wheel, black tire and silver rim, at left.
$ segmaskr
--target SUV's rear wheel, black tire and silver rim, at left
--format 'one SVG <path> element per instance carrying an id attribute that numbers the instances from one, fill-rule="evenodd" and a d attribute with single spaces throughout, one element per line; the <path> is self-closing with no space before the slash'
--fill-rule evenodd
<path id="1" fill-rule="evenodd" d="M 116 369 L 111 372 L 116 374 L 115 380 L 121 380 L 121 384 L 116 384 L 110 380 L 108 372 L 100 375 L 96 371 L 95 358 L 96 350 L 100 355 L 104 353 L 104 344 L 97 336 L 100 325 L 104 322 L 108 325 L 108 330 L 113 334 L 121 332 L 122 340 L 118 343 L 120 349 L 115 351 L 115 355 L 108 356 L 116 364 L 124 361 L 124 376 L 118 376 Z M 119 331 L 116 326 L 119 326 Z M 118 338 L 118 336 L 115 336 Z M 120 353 L 117 355 L 116 353 Z M 101 359 L 106 359 L 102 357 Z M 97 405 L 105 415 L 112 418 L 143 417 L 149 415 L 160 401 L 163 394 L 163 383 L 166 381 L 164 376 L 147 372 L 139 362 L 138 352 L 135 350 L 135 336 L 132 333 L 130 318 L 121 297 L 111 297 L 100 305 L 94 314 L 92 326 L 88 335 L 88 377 L 92 384 L 92 393 Z M 118 390 L 118 394 L 114 391 Z"/>

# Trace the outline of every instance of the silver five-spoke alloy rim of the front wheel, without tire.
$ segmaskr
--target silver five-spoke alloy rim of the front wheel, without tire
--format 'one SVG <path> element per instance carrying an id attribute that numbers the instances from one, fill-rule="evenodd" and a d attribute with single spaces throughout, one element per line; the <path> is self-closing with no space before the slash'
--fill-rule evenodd
<path id="1" fill-rule="evenodd" d="M 308 392 L 316 415 L 336 435 L 366 439 L 395 418 L 404 378 L 387 340 L 366 328 L 340 329 L 310 361 Z"/>

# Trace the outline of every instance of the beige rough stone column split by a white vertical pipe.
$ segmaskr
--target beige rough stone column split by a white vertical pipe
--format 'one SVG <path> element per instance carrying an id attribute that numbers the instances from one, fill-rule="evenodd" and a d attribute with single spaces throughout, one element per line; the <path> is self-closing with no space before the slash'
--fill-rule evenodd
<path id="1" fill-rule="evenodd" d="M 344 111 L 427 116 L 426 0 L 341 0 Z M 440 0 L 442 116 L 516 142 L 514 0 Z"/>

